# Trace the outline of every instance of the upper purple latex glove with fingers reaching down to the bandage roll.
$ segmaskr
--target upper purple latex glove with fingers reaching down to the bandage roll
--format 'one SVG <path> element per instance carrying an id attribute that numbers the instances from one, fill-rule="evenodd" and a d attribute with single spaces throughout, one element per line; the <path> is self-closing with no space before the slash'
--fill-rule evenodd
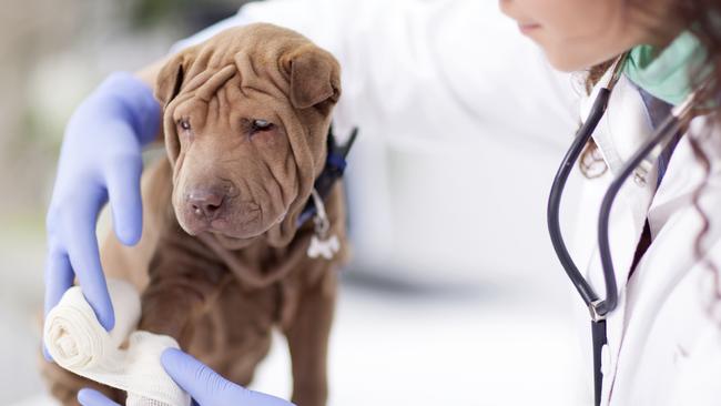
<path id="1" fill-rule="evenodd" d="M 47 217 L 45 314 L 78 276 L 100 323 L 106 329 L 114 326 L 95 223 L 110 200 L 118 238 L 126 245 L 140 240 L 141 150 L 158 134 L 160 116 L 152 90 L 132 74 L 116 72 L 70 119 Z"/>

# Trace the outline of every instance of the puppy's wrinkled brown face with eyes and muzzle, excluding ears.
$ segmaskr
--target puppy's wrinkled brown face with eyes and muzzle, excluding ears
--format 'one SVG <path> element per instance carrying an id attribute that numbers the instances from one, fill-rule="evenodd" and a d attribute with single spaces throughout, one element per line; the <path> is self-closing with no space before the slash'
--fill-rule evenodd
<path id="1" fill-rule="evenodd" d="M 190 234 L 247 238 L 287 214 L 297 172 L 282 120 L 260 94 L 230 84 L 173 111 L 181 149 L 173 205 Z"/>

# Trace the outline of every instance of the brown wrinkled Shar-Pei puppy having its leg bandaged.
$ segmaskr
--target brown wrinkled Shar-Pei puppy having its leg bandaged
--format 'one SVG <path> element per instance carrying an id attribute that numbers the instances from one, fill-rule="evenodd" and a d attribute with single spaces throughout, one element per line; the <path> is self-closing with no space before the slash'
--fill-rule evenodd
<path id="1" fill-rule="evenodd" d="M 345 261 L 339 184 L 325 196 L 331 260 L 307 255 L 313 222 L 297 224 L 322 175 L 339 67 L 301 34 L 270 24 L 226 30 L 175 55 L 158 78 L 169 160 L 144 174 L 144 229 L 132 248 L 110 236 L 106 274 L 142 294 L 140 329 L 175 337 L 229 379 L 247 385 L 272 328 L 287 337 L 293 402 L 324 405 L 326 354 Z M 44 367 L 74 404 L 82 386 Z"/>

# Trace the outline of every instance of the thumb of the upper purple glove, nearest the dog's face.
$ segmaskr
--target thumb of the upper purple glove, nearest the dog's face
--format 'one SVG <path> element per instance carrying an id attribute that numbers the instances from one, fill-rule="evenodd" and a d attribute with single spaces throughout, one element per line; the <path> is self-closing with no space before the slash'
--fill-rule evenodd
<path id="1" fill-rule="evenodd" d="M 110 209 L 118 240 L 135 245 L 143 231 L 143 203 L 140 195 L 140 176 L 143 163 L 138 156 L 111 166 L 106 171 Z"/>

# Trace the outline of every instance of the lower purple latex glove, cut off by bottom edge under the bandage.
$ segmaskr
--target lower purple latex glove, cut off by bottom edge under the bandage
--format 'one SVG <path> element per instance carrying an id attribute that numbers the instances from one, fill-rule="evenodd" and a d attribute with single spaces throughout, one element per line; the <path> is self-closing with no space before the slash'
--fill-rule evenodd
<path id="1" fill-rule="evenodd" d="M 165 349 L 160 359 L 173 380 L 201 406 L 293 406 L 278 397 L 235 385 L 180 349 Z M 80 390 L 78 402 L 83 406 L 120 406 L 93 389 Z"/>

